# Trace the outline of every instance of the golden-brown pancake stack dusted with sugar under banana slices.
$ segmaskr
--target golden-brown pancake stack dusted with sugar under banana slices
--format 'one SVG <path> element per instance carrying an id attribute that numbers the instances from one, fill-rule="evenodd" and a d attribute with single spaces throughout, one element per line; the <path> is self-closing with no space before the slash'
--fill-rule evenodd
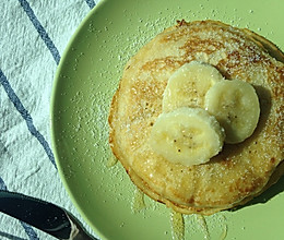
<path id="1" fill-rule="evenodd" d="M 178 24 L 158 34 L 126 64 L 109 112 L 109 144 L 138 188 L 182 214 L 210 215 L 247 203 L 284 173 L 284 55 L 264 37 L 216 21 Z M 186 167 L 150 143 L 170 75 L 202 61 L 227 80 L 250 83 L 259 97 L 253 134 L 225 144 L 210 161 Z"/>

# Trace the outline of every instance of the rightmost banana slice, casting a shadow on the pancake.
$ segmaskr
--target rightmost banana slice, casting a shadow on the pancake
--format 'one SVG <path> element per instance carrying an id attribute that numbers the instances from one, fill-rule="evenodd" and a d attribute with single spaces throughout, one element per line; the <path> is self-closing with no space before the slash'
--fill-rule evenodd
<path id="1" fill-rule="evenodd" d="M 212 86 L 205 95 L 205 109 L 225 129 L 226 143 L 240 143 L 249 137 L 260 115 L 255 88 L 239 80 L 226 80 Z"/>

